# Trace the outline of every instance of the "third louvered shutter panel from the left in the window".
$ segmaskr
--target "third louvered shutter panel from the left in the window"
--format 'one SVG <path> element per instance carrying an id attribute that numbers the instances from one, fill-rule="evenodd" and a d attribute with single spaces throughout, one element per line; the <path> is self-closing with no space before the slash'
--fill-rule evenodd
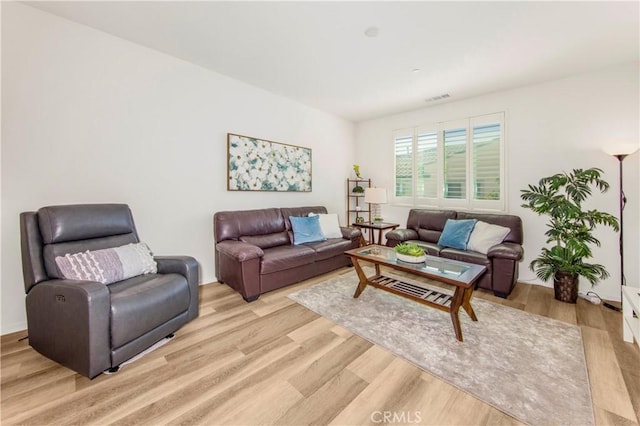
<path id="1" fill-rule="evenodd" d="M 467 197 L 467 129 L 443 132 L 444 198 Z"/>

